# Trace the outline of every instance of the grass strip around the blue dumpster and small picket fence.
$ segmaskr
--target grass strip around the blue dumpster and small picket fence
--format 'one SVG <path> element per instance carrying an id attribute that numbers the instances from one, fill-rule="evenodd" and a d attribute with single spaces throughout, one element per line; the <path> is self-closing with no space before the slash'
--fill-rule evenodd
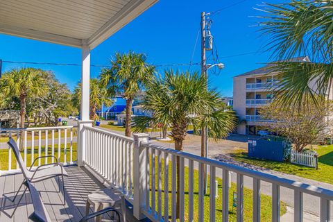
<path id="1" fill-rule="evenodd" d="M 311 167 L 302 167 L 289 162 L 275 162 L 259 160 L 248 157 L 247 153 L 239 152 L 231 155 L 239 162 L 246 162 L 259 167 L 265 167 L 283 173 L 289 173 L 303 178 L 318 180 L 333 184 L 333 145 L 318 146 L 318 170 Z"/>

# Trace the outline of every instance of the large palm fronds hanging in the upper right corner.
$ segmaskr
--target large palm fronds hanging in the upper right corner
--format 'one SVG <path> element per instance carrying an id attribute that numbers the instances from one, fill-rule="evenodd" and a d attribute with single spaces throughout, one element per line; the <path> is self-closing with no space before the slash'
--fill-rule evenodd
<path id="1" fill-rule="evenodd" d="M 260 25 L 269 36 L 267 49 L 278 59 L 271 71 L 279 71 L 282 89 L 274 92 L 281 102 L 317 101 L 330 93 L 333 78 L 333 1 L 293 0 L 266 4 Z M 294 57 L 308 55 L 313 62 Z M 312 83 L 312 84 L 311 84 Z M 316 83 L 318 89 L 313 89 Z"/>

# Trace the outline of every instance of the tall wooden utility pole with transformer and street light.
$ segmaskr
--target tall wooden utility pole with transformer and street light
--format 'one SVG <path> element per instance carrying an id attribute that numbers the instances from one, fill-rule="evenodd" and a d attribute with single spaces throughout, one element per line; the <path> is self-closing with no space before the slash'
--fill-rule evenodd
<path id="1" fill-rule="evenodd" d="M 207 69 L 206 69 L 206 21 L 205 21 L 205 12 L 201 12 L 201 75 L 205 76 L 206 78 L 206 90 L 207 90 Z M 203 127 L 201 129 L 201 156 L 207 157 L 207 129 Z M 207 166 L 204 169 L 204 176 L 205 176 L 205 194 L 207 191 Z"/>

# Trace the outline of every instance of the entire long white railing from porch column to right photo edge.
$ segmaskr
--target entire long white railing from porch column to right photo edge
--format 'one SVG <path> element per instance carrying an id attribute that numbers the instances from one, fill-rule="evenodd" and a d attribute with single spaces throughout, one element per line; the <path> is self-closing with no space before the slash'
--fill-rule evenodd
<path id="1" fill-rule="evenodd" d="M 333 200 L 331 190 L 171 148 L 147 144 L 143 142 L 143 139 L 147 139 L 147 135 L 134 135 L 132 139 L 89 126 L 85 126 L 83 132 L 86 144 L 85 164 L 105 182 L 119 187 L 126 194 L 130 203 L 133 203 L 133 212 L 137 219 L 148 217 L 151 221 L 176 221 L 176 210 L 179 207 L 179 221 L 185 221 L 185 219 L 186 221 L 206 221 L 207 213 L 209 213 L 209 221 L 228 221 L 230 171 L 237 175 L 237 221 L 244 221 L 244 176 L 253 180 L 253 218 L 250 219 L 252 221 L 260 221 L 262 181 L 272 185 L 273 222 L 280 221 L 280 187 L 287 187 L 294 191 L 294 221 L 302 221 L 303 194 L 320 198 L 321 221 L 331 219 L 330 203 Z M 180 175 L 179 188 L 177 188 L 177 166 L 179 166 Z M 210 201 L 208 202 L 204 201 L 205 167 L 210 174 Z M 194 175 L 198 176 L 195 178 Z M 223 179 L 222 188 L 220 188 L 222 189 L 221 218 L 216 216 L 215 180 L 217 177 Z M 194 187 L 198 187 L 196 191 Z M 188 191 L 187 200 L 185 200 L 185 190 Z M 180 194 L 178 205 L 177 194 Z M 194 196 L 198 196 L 198 199 Z M 209 212 L 205 212 L 207 205 L 209 205 Z M 198 212 L 195 209 L 198 209 Z"/>

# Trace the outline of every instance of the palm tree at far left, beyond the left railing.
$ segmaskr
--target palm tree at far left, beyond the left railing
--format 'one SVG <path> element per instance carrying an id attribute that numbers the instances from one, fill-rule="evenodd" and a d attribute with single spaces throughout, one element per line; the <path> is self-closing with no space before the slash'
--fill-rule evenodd
<path id="1" fill-rule="evenodd" d="M 26 117 L 26 99 L 41 96 L 47 91 L 42 74 L 44 71 L 34 68 L 12 69 L 3 74 L 0 86 L 5 96 L 17 96 L 20 102 L 21 128 Z"/>

